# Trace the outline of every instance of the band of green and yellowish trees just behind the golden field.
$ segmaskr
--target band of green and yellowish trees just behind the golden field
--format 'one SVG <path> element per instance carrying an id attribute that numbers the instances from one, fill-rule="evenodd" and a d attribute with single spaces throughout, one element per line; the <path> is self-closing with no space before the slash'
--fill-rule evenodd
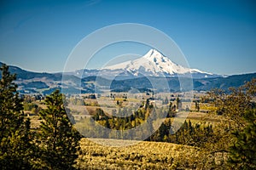
<path id="1" fill-rule="evenodd" d="M 180 100 L 177 101 L 177 103 L 180 103 Z M 92 119 L 82 119 L 78 128 L 79 132 L 82 132 L 84 136 L 88 137 L 137 139 L 147 133 L 150 134 L 148 138 L 145 138 L 147 141 L 188 144 L 192 146 L 201 146 L 212 137 L 213 128 L 211 123 L 192 123 L 190 120 L 185 120 L 183 125 L 178 129 L 177 127 L 173 127 L 171 118 L 176 115 L 176 105 L 172 105 L 172 102 L 170 102 L 166 108 L 156 109 L 154 105 L 149 103 L 149 99 L 147 99 L 145 105 L 137 111 L 132 111 L 131 108 L 124 107 L 119 108 L 119 111 L 114 112 L 111 116 L 105 113 L 101 108 L 97 108 L 95 113 L 91 116 Z M 154 122 L 163 119 L 165 119 L 165 121 L 162 121 L 160 126 L 153 126 Z M 143 129 L 129 131 L 129 133 L 126 132 L 126 130 L 139 125 L 144 126 Z M 104 127 L 119 131 L 104 130 Z"/>

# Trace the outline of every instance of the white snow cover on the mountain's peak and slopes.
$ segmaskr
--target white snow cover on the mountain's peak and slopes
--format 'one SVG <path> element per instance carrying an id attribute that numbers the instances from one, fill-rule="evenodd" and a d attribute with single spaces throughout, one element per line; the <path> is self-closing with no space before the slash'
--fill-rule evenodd
<path id="1" fill-rule="evenodd" d="M 116 74 L 131 74 L 135 77 L 138 76 L 169 76 L 175 77 L 177 75 L 188 75 L 192 74 L 194 77 L 217 77 L 206 71 L 200 71 L 198 69 L 185 68 L 182 65 L 177 65 L 172 62 L 171 59 L 167 58 L 163 54 L 160 54 L 156 49 L 150 49 L 147 54 L 139 59 L 126 61 L 117 65 L 106 66 L 101 69 L 102 73 L 108 71 Z M 103 76 L 103 75 L 102 75 Z M 117 76 L 117 75 L 115 75 Z M 218 76 L 219 77 L 219 76 Z"/>

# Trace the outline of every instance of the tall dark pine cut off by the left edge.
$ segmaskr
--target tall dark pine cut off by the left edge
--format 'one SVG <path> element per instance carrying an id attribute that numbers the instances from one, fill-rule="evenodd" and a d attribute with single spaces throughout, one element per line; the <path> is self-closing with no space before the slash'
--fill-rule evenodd
<path id="1" fill-rule="evenodd" d="M 2 169 L 32 168 L 32 134 L 30 121 L 25 120 L 22 99 L 16 91 L 15 75 L 9 66 L 0 68 L 0 167 Z"/>

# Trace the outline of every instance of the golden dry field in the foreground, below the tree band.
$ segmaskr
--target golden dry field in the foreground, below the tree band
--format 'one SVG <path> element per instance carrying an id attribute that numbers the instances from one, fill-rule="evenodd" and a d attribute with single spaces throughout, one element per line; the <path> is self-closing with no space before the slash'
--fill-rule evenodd
<path id="1" fill-rule="evenodd" d="M 97 139 L 122 145 L 131 141 Z M 161 142 L 139 142 L 126 147 L 96 144 L 90 139 L 81 140 L 78 167 L 82 169 L 176 169 L 200 167 L 200 152 L 190 146 Z"/>

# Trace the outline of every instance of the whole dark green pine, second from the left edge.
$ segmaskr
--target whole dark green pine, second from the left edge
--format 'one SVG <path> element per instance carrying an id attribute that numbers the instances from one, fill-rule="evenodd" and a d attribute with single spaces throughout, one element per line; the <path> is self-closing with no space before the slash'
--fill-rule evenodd
<path id="1" fill-rule="evenodd" d="M 65 102 L 59 90 L 45 99 L 47 109 L 40 111 L 42 118 L 39 139 L 42 142 L 42 167 L 73 169 L 78 157 L 79 133 L 73 128 L 65 111 Z"/>

